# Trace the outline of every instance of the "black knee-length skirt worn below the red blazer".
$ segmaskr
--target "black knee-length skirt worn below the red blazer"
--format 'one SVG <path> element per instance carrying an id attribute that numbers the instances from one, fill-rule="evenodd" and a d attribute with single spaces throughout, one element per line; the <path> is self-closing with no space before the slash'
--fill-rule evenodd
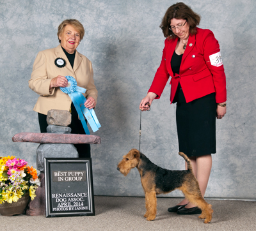
<path id="1" fill-rule="evenodd" d="M 216 153 L 215 93 L 186 103 L 182 89 L 175 100 L 179 151 L 187 156 Z"/>

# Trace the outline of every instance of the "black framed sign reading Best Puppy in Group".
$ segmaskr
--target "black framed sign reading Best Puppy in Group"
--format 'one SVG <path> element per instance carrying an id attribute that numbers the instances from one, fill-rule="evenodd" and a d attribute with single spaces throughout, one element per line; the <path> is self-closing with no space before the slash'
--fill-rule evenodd
<path id="1" fill-rule="evenodd" d="M 94 216 L 91 158 L 45 158 L 45 213 Z"/>

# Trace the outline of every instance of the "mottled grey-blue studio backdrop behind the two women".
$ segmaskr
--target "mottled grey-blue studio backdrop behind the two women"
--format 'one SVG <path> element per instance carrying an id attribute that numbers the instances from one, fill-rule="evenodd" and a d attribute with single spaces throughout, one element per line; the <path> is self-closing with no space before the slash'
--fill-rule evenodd
<path id="1" fill-rule="evenodd" d="M 25 158 L 36 166 L 38 144 L 13 143 L 20 132 L 39 132 L 33 106 L 37 94 L 28 87 L 40 50 L 56 47 L 57 27 L 65 19 L 84 25 L 77 48 L 93 63 L 99 90 L 96 113 L 102 125 L 92 145 L 95 195 L 143 196 L 136 169 L 124 177 L 118 161 L 139 147 L 141 99 L 160 64 L 164 36 L 159 28 L 175 1 L 159 0 L 1 0 L 0 102 L 1 153 Z M 227 115 L 217 121 L 217 153 L 205 197 L 255 199 L 255 0 L 184 1 L 202 16 L 220 42 L 227 75 Z M 144 112 L 141 151 L 157 165 L 184 169 L 178 155 L 175 107 L 170 86 Z M 173 192 L 167 197 L 178 197 Z"/>

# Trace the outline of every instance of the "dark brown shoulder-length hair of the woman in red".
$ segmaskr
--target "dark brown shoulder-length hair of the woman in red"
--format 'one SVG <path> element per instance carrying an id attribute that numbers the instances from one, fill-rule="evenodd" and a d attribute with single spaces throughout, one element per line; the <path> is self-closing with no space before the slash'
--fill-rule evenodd
<path id="1" fill-rule="evenodd" d="M 175 39 L 177 36 L 170 31 L 169 27 L 172 19 L 185 19 L 189 24 L 189 33 L 196 34 L 196 26 L 199 25 L 201 16 L 191 10 L 190 6 L 184 3 L 176 3 L 168 8 L 161 22 L 161 29 L 164 37 Z"/>

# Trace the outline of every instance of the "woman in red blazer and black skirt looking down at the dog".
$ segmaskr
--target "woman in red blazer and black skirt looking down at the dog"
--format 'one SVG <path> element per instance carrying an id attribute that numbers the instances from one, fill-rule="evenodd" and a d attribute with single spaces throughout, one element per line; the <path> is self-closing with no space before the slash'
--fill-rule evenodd
<path id="1" fill-rule="evenodd" d="M 227 90 L 219 43 L 210 30 L 196 27 L 199 22 L 200 15 L 184 3 L 168 8 L 160 26 L 166 37 L 162 61 L 140 110 L 147 110 L 146 103 L 151 105 L 160 98 L 171 77 L 170 101 L 177 103 L 179 151 L 189 156 L 204 197 L 211 154 L 216 153 L 216 117 L 226 114 Z M 186 199 L 168 211 L 202 212 Z"/>

